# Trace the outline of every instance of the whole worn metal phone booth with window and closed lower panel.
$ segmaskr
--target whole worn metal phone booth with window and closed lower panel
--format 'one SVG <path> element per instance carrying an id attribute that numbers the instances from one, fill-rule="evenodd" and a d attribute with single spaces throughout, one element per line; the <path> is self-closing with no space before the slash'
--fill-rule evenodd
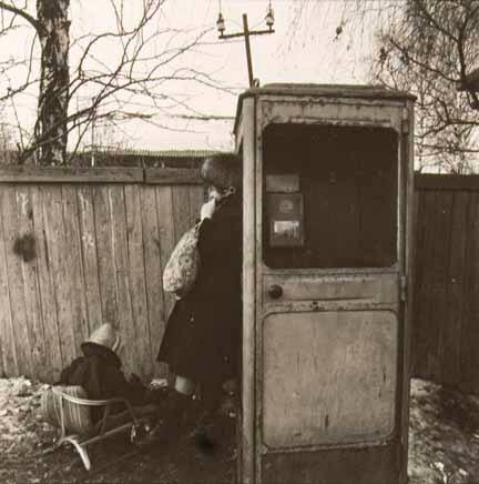
<path id="1" fill-rule="evenodd" d="M 412 109 L 370 87 L 240 97 L 241 483 L 407 481 Z"/>

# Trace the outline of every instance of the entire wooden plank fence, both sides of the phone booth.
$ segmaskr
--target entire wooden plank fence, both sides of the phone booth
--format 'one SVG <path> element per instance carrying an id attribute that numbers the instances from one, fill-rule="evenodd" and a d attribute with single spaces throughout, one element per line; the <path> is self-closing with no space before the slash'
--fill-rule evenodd
<path id="1" fill-rule="evenodd" d="M 197 173 L 0 170 L 0 375 L 52 382 L 101 322 L 126 373 L 155 355 L 161 274 L 204 199 Z M 417 175 L 412 372 L 479 393 L 479 177 Z"/>

